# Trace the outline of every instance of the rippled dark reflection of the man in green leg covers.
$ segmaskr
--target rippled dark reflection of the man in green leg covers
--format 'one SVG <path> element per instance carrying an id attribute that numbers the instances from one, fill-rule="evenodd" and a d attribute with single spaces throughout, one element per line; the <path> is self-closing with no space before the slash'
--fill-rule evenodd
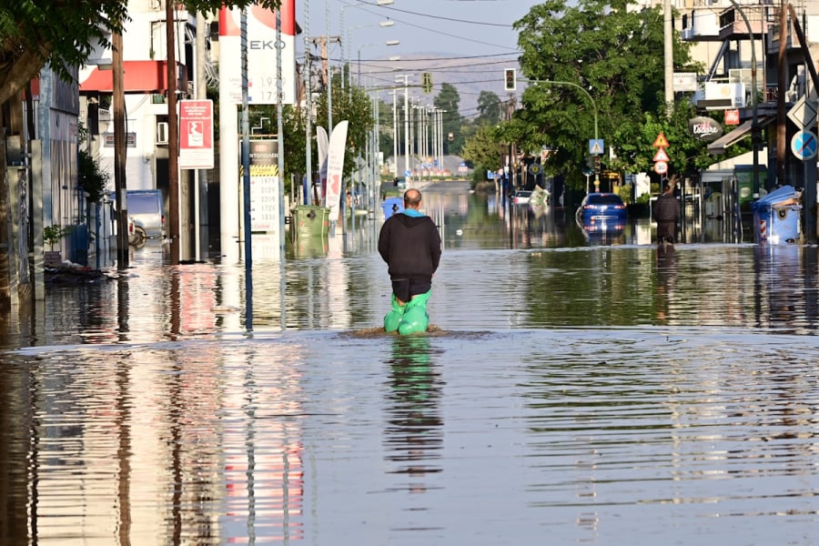
<path id="1" fill-rule="evenodd" d="M 443 443 L 439 407 L 443 383 L 434 357 L 429 338 L 399 336 L 392 342 L 387 457 L 399 463 L 393 472 L 412 478 L 441 470 L 433 464 Z M 424 483 L 407 487 L 413 492 L 427 490 Z"/>

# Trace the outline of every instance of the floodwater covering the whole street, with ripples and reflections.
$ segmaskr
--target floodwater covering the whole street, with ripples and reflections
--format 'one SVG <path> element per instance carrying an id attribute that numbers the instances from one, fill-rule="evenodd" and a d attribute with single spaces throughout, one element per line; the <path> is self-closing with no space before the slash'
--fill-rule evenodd
<path id="1" fill-rule="evenodd" d="M 366 215 L 0 319 L 0 546 L 819 543 L 815 246 L 422 191 L 425 336 Z"/>

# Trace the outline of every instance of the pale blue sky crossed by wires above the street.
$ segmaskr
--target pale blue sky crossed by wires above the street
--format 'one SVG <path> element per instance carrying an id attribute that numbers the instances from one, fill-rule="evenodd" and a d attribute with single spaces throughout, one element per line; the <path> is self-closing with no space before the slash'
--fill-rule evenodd
<path id="1" fill-rule="evenodd" d="M 297 0 L 296 19 L 310 37 L 340 37 L 341 45 L 330 45 L 330 63 L 339 66 L 342 59 L 349 61 L 356 73 L 360 66 L 369 85 L 391 85 L 405 75 L 410 84 L 420 84 L 421 73 L 430 72 L 432 96 L 441 83 L 450 83 L 459 89 L 467 110 L 476 103 L 480 89 L 505 94 L 503 69 L 517 66 L 520 55 L 512 24 L 539 4 L 534 0 L 393 0 L 391 5 L 378 5 L 378 1 Z M 379 26 L 385 21 L 394 24 Z M 304 35 L 300 37 L 303 42 Z M 399 44 L 386 45 L 392 40 Z M 319 54 L 318 49 L 313 51 Z M 398 60 L 384 62 L 397 56 Z M 420 96 L 420 89 L 413 89 L 412 95 Z"/>

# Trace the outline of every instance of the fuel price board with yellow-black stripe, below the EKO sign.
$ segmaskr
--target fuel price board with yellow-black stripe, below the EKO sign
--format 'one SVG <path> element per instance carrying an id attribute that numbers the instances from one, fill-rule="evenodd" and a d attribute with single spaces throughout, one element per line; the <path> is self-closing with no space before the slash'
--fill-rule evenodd
<path id="1" fill-rule="evenodd" d="M 250 230 L 278 233 L 278 142 L 250 141 Z"/>

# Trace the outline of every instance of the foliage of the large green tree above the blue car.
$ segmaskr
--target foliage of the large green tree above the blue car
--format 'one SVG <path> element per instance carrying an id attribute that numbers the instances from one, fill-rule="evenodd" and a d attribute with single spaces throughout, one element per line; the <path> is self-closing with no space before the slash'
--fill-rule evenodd
<path id="1" fill-rule="evenodd" d="M 553 151 L 546 167 L 564 173 L 574 187 L 584 184 L 581 170 L 594 137 L 595 110 L 598 137 L 618 157 L 629 157 L 645 113 L 665 108 L 663 56 L 658 54 L 664 42 L 662 7 L 630 12 L 626 4 L 581 0 L 570 6 L 547 0 L 515 24 L 522 72 L 531 86 L 504 134 L 529 149 L 549 145 Z M 679 36 L 673 54 L 675 69 L 697 68 Z M 603 156 L 603 166 L 610 167 L 606 161 Z"/>

